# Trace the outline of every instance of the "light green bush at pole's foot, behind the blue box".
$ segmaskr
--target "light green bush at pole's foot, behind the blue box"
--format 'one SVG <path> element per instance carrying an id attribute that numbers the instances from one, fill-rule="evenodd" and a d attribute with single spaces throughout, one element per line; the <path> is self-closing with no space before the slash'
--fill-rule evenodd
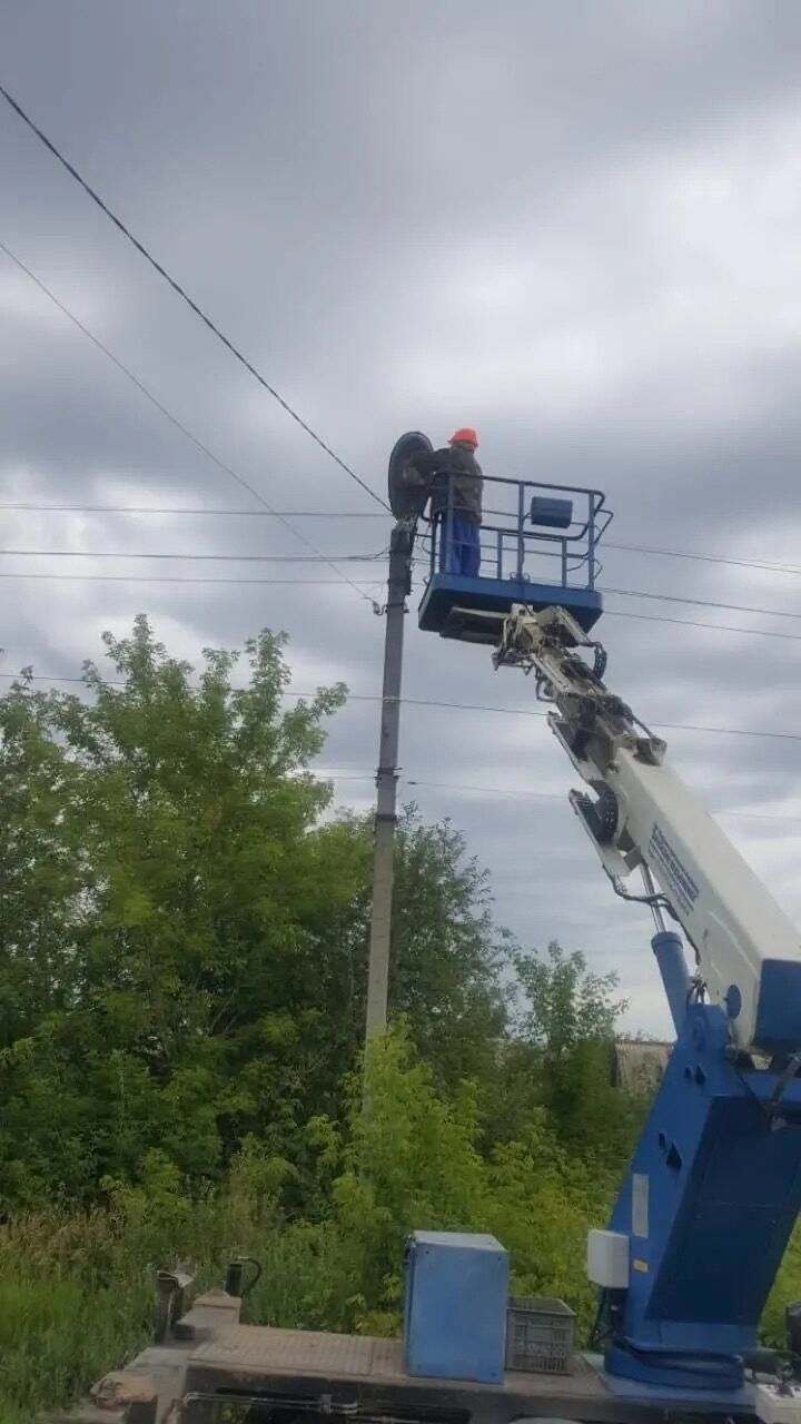
<path id="1" fill-rule="evenodd" d="M 365 1079 L 353 1075 L 349 1094 L 343 1171 L 334 1183 L 345 1326 L 398 1329 L 403 1245 L 413 1229 L 495 1233 L 512 1252 L 522 1293 L 567 1294 L 589 1320 L 584 1242 L 607 1215 L 611 1183 L 566 1153 L 544 1112 L 523 1141 L 485 1155 L 475 1084 L 443 1098 L 402 1031 L 369 1045 Z"/>

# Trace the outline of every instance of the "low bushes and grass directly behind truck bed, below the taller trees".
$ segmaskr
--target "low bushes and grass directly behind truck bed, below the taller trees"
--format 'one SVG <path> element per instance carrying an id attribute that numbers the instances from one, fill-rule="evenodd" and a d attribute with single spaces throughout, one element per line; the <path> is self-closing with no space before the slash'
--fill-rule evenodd
<path id="1" fill-rule="evenodd" d="M 0 1227 L 0 1418 L 68 1401 L 141 1346 L 153 1272 L 177 1260 L 207 1287 L 234 1256 L 258 1257 L 251 1319 L 392 1334 L 408 1233 L 490 1230 L 512 1250 L 516 1286 L 560 1292 L 586 1316 L 583 1239 L 606 1199 L 542 1115 L 524 1142 L 485 1158 L 475 1087 L 439 1094 L 403 1031 L 371 1044 L 366 1084 L 362 1108 L 362 1075 L 349 1077 L 341 1128 L 316 1118 L 306 1129 L 329 1183 L 325 1220 L 286 1220 L 286 1163 L 251 1138 L 194 1199 L 167 1155 L 151 1152 L 137 1185 L 105 1183 L 107 1208 L 48 1208 Z"/>

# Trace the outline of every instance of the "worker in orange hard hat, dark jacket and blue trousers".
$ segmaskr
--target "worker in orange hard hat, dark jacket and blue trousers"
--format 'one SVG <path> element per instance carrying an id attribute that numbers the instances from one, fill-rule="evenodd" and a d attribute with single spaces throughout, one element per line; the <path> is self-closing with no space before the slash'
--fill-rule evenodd
<path id="1" fill-rule="evenodd" d="M 409 486 L 430 488 L 430 518 L 439 528 L 439 568 L 443 574 L 475 578 L 482 561 L 482 467 L 476 460 L 479 437 L 462 426 L 442 450 L 412 456 Z M 435 534 L 436 537 L 436 534 Z"/>

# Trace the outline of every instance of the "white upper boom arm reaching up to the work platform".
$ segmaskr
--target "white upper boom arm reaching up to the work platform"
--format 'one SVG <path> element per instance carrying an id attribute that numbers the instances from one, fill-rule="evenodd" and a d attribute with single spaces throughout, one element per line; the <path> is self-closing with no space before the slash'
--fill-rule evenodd
<path id="1" fill-rule="evenodd" d="M 582 645 L 601 651 L 564 609 L 534 614 L 515 607 L 495 662 L 534 669 L 540 698 L 554 705 L 552 731 L 599 797 L 593 802 L 572 792 L 570 800 L 616 889 L 640 866 L 651 871 L 696 950 L 710 1001 L 730 1017 L 737 1047 L 760 1048 L 767 1040 L 770 1048 L 777 984 L 781 988 L 787 981 L 777 967 L 778 977 L 760 1001 L 763 970 L 767 961 L 801 965 L 801 936 L 717 822 L 664 765 L 666 743 L 607 691 L 601 658 L 590 669 L 577 655 Z M 771 965 L 770 974 L 775 973 Z M 801 1049 L 801 1034 L 794 1045 L 781 1035 L 778 1041 L 788 1051 Z"/>

